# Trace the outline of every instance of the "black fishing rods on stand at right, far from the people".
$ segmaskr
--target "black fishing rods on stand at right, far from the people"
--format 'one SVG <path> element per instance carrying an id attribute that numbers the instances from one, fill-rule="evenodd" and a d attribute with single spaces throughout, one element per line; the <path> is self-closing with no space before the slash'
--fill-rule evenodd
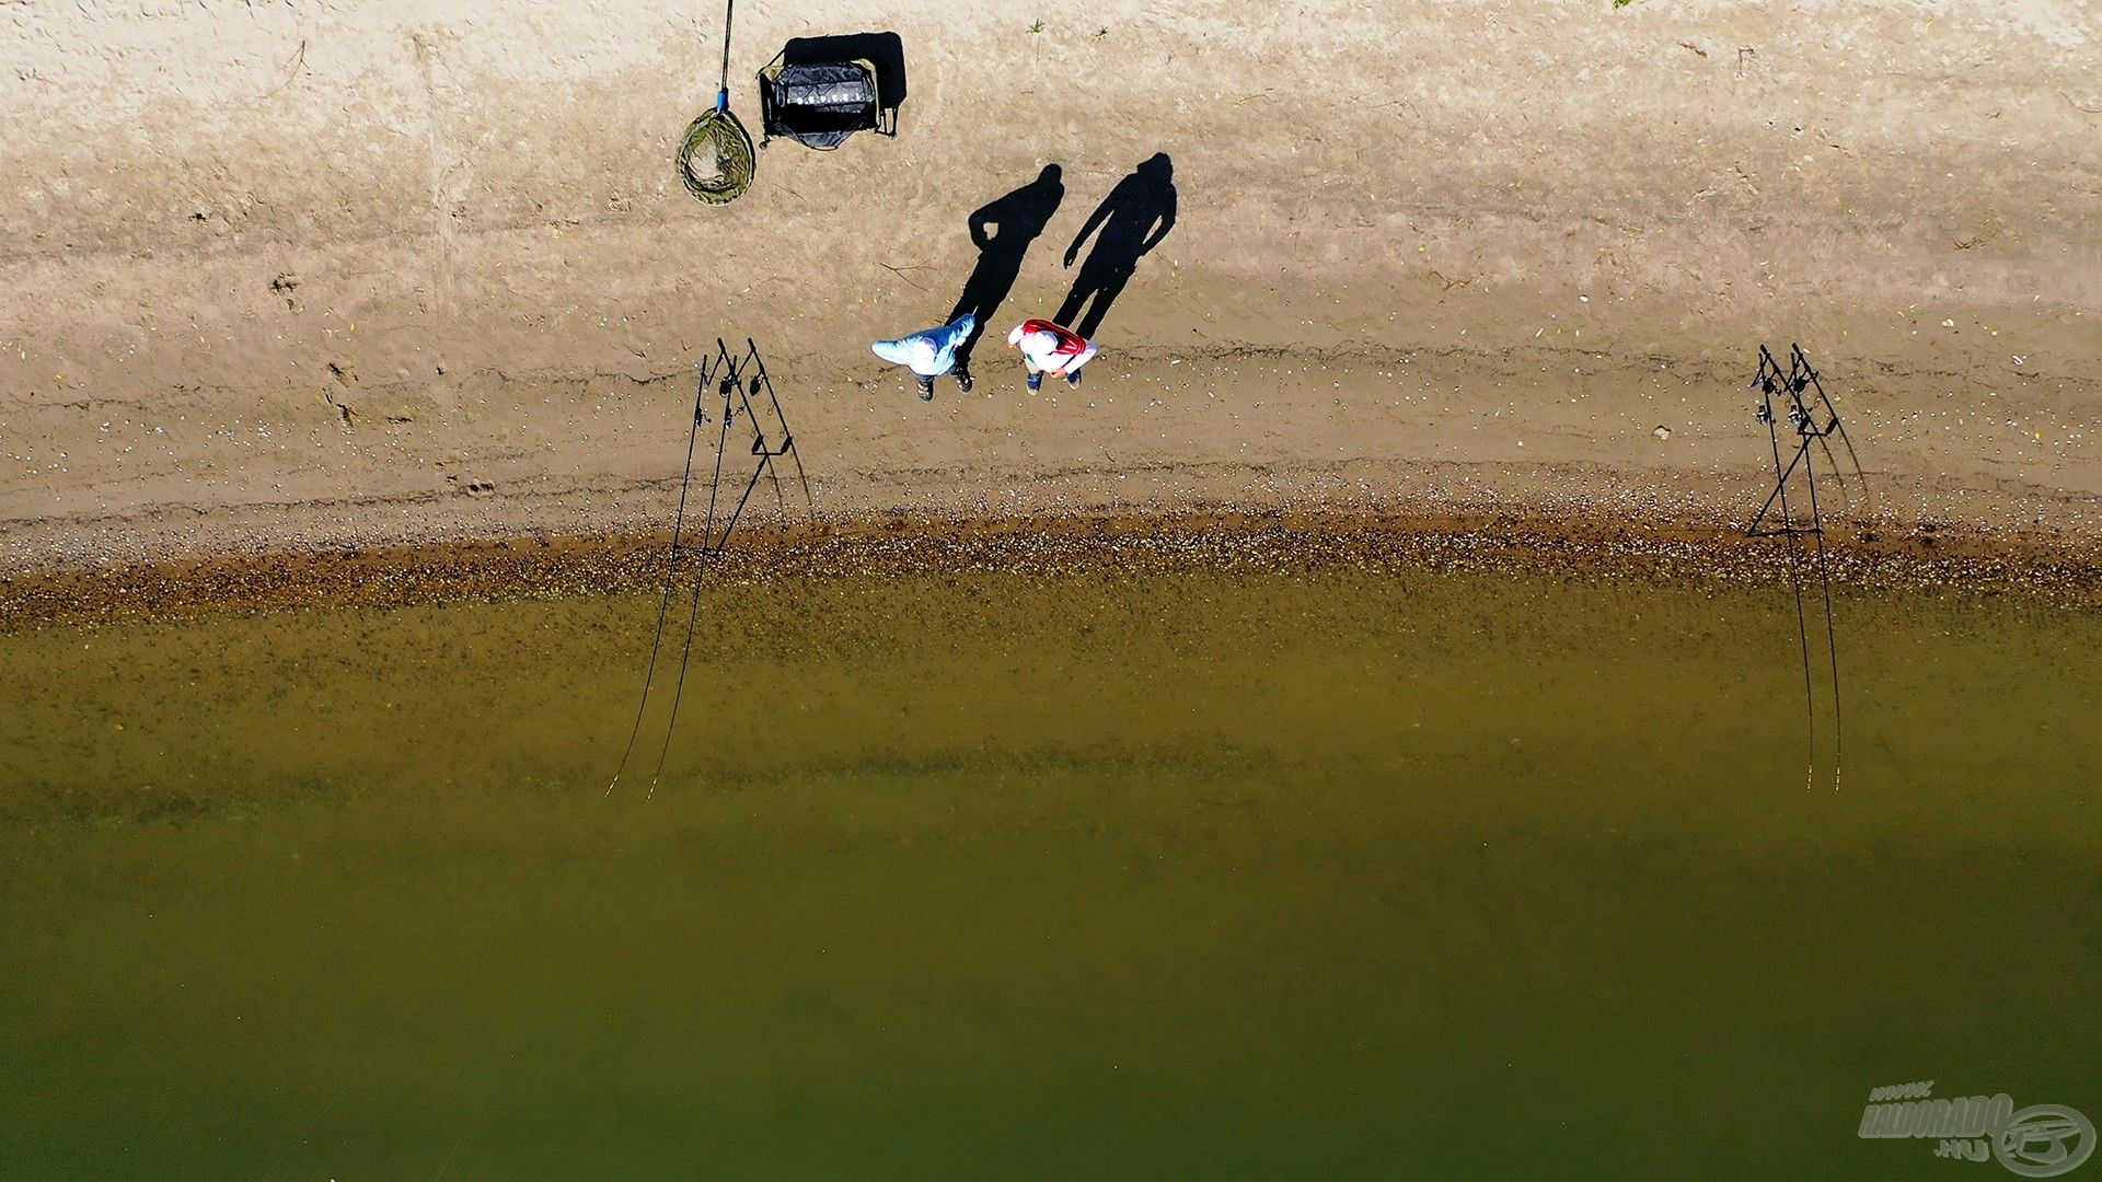
<path id="1" fill-rule="evenodd" d="M 1804 656 L 1804 711 L 1808 715 L 1806 738 L 1810 745 L 1806 787 L 1816 782 L 1818 774 L 1818 707 L 1816 690 L 1812 686 L 1814 677 L 1810 671 L 1810 612 L 1804 606 L 1804 564 L 1810 562 L 1816 568 L 1816 578 L 1825 597 L 1825 652 L 1831 658 L 1833 791 L 1837 791 L 1839 759 L 1846 745 L 1846 730 L 1839 713 L 1839 629 L 1833 623 L 1831 562 L 1825 553 L 1825 509 L 1818 501 L 1818 473 L 1812 448 L 1825 452 L 1825 458 L 1831 465 L 1833 482 L 1839 486 L 1843 501 L 1850 503 L 1852 498 L 1846 492 L 1846 475 L 1839 471 L 1839 461 L 1833 456 L 1829 444 L 1831 435 L 1839 435 L 1848 458 L 1854 461 L 1854 480 L 1860 484 L 1864 496 L 1869 490 L 1869 477 L 1860 467 L 1860 456 L 1854 452 L 1854 440 L 1848 437 L 1846 427 L 1839 423 L 1839 410 L 1833 406 L 1831 395 L 1825 393 L 1825 383 L 1818 381 L 1818 370 L 1810 364 L 1801 345 L 1789 345 L 1787 370 L 1780 368 L 1780 362 L 1774 360 L 1774 353 L 1768 351 L 1766 345 L 1759 345 L 1759 372 L 1753 374 L 1751 387 L 1759 391 L 1755 416 L 1766 425 L 1766 437 L 1772 444 L 1774 490 L 1766 494 L 1766 503 L 1759 505 L 1759 513 L 1753 515 L 1745 534 L 1753 538 L 1787 538 L 1789 543 L 1789 585 L 1795 591 L 1795 639 Z M 1816 391 L 1816 398 L 1804 398 L 1806 391 Z M 1776 395 L 1782 395 L 1785 419 L 1795 431 L 1795 448 L 1787 463 L 1780 458 L 1780 416 L 1774 414 Z M 1818 423 L 1820 414 L 1822 423 Z M 1797 473 L 1801 475 L 1801 484 L 1808 492 L 1808 522 L 1797 515 L 1797 505 L 1789 503 L 1789 482 L 1793 482 Z"/>

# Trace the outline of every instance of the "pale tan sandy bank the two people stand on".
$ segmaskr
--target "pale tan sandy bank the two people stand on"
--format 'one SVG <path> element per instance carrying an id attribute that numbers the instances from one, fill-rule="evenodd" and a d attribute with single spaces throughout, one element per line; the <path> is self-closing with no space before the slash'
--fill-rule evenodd
<path id="1" fill-rule="evenodd" d="M 744 4 L 748 122 L 788 36 L 895 29 L 910 97 L 710 210 L 671 154 L 719 19 L 0 4 L 0 570 L 645 534 L 715 334 L 767 349 L 849 532 L 1225 507 L 1722 551 L 1751 351 L 1793 339 L 1869 469 L 1850 536 L 2091 568 L 2089 4 Z M 1085 387 L 984 349 L 923 406 L 868 355 L 1047 162 L 1003 320 L 1055 309 L 1156 151 L 1177 223 Z"/>

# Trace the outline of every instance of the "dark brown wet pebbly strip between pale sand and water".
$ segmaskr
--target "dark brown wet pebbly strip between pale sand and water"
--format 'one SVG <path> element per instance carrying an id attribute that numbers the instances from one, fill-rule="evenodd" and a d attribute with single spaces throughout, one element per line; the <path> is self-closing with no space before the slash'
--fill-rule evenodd
<path id="1" fill-rule="evenodd" d="M 0 574 L 0 633 L 53 625 L 168 620 L 223 612 L 399 608 L 662 587 L 668 534 L 538 534 L 372 549 L 212 555 L 92 570 Z M 1839 593 L 1959 589 L 2102 608 L 2102 547 L 2064 538 L 1835 528 L 1829 572 Z M 1816 593 L 1812 541 L 1799 576 Z M 1787 593 L 1778 538 L 1715 534 L 1701 524 L 1518 513 L 1223 513 L 927 519 L 753 526 L 702 578 L 763 583 L 868 572 L 1005 570 L 1335 570 L 1562 572 L 1574 578 L 1764 583 Z M 700 572 L 681 557 L 679 593 Z"/>

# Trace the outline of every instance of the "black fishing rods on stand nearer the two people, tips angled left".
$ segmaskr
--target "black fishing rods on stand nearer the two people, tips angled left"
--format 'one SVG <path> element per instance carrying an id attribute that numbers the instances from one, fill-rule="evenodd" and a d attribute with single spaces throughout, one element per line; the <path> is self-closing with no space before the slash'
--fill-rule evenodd
<path id="1" fill-rule="evenodd" d="M 708 423 L 710 389 L 721 400 L 717 410 L 717 423 L 721 427 L 715 440 L 715 471 L 708 475 L 708 513 L 700 528 L 700 543 L 694 545 L 685 541 L 685 513 L 692 503 L 694 456 L 700 450 L 700 429 Z M 723 463 L 729 454 L 729 429 L 740 416 L 753 435 L 753 444 L 748 448 L 753 469 L 744 480 L 744 490 L 738 492 L 738 503 L 725 511 Z M 664 551 L 664 593 L 658 597 L 658 618 L 650 637 L 650 663 L 643 669 L 641 700 L 635 705 L 635 726 L 628 730 L 628 742 L 620 751 L 620 763 L 614 768 L 614 778 L 605 784 L 607 795 L 612 795 L 612 791 L 620 784 L 620 776 L 628 770 L 628 759 L 635 755 L 635 742 L 643 732 L 643 717 L 650 711 L 650 690 L 656 686 L 658 656 L 664 648 L 664 623 L 671 616 L 671 602 L 679 585 L 681 555 L 694 557 L 694 595 L 685 612 L 685 641 L 679 646 L 679 679 L 673 684 L 671 715 L 664 719 L 664 745 L 658 747 L 656 770 L 650 774 L 650 795 L 656 795 L 656 784 L 664 776 L 664 757 L 671 753 L 671 736 L 679 726 L 679 702 L 685 698 L 685 673 L 694 660 L 694 629 L 700 625 L 700 591 L 706 583 L 708 566 L 723 553 L 723 547 L 729 545 L 729 534 L 736 532 L 738 522 L 744 517 L 744 509 L 753 503 L 753 492 L 759 488 L 761 477 L 771 482 L 782 519 L 788 517 L 788 498 L 782 492 L 780 471 L 776 471 L 776 461 L 782 456 L 795 463 L 797 482 L 803 486 L 803 503 L 811 513 L 816 513 L 816 501 L 809 496 L 809 475 L 803 471 L 803 456 L 795 450 L 795 433 L 788 429 L 788 416 L 782 412 L 780 395 L 774 391 L 774 379 L 767 374 L 767 364 L 759 355 L 759 345 L 746 337 L 744 351 L 731 355 L 729 345 L 717 337 L 715 355 L 702 362 L 700 381 L 694 385 L 694 421 L 687 427 L 685 437 L 685 471 L 679 475 L 679 509 L 673 513 L 671 547 Z M 731 473 L 731 480 L 736 480 L 736 473 Z"/>

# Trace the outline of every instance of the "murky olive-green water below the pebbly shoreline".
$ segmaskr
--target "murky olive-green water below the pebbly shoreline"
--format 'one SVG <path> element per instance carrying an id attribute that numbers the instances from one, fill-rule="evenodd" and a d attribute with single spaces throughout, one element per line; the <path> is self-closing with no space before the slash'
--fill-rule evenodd
<path id="1" fill-rule="evenodd" d="M 1843 595 L 1835 791 L 1776 589 L 725 585 L 607 795 L 654 608 L 0 637 L 0 1174 L 1982 1180 L 1869 1092 L 2102 1117 L 2094 614 Z"/>

